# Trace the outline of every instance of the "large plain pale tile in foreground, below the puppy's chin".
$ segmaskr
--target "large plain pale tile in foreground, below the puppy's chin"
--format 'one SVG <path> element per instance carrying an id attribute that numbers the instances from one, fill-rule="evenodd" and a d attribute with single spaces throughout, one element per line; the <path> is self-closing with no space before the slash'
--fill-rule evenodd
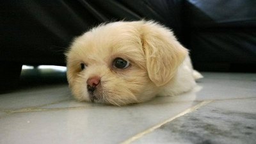
<path id="1" fill-rule="evenodd" d="M 0 118 L 0 143 L 120 143 L 197 103 L 102 105 L 13 113 Z"/>

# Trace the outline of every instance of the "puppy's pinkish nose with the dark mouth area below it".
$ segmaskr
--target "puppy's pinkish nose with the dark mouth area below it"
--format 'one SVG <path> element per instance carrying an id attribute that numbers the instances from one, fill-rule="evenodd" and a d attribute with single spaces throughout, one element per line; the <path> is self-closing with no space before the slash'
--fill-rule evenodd
<path id="1" fill-rule="evenodd" d="M 97 77 L 97 76 L 90 77 L 86 83 L 87 83 L 88 93 L 90 94 L 90 99 L 93 102 L 93 100 L 98 99 L 98 97 L 95 95 L 95 91 L 99 86 L 100 77 Z"/>

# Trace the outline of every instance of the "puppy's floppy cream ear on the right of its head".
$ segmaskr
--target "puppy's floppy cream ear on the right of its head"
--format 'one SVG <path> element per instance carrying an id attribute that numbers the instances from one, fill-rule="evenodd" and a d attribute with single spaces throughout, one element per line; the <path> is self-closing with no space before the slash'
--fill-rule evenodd
<path id="1" fill-rule="evenodd" d="M 156 86 L 168 83 L 188 55 L 170 29 L 155 22 L 145 22 L 141 28 L 148 76 Z"/>

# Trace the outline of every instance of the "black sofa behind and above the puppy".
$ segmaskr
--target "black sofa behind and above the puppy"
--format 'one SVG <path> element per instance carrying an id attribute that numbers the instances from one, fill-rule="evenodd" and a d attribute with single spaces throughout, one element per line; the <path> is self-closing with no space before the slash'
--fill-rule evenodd
<path id="1" fill-rule="evenodd" d="M 0 83 L 21 65 L 65 65 L 74 36 L 102 22 L 156 20 L 172 28 L 200 71 L 256 72 L 255 0 L 5 0 Z"/>

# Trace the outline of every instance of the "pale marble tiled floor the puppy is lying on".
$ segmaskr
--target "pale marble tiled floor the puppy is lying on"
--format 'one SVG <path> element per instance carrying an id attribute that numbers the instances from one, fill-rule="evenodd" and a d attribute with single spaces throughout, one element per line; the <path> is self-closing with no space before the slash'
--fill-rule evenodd
<path id="1" fill-rule="evenodd" d="M 51 74 L 0 95 L 1 144 L 256 143 L 256 74 L 203 73 L 191 92 L 124 107 L 77 102 Z"/>

